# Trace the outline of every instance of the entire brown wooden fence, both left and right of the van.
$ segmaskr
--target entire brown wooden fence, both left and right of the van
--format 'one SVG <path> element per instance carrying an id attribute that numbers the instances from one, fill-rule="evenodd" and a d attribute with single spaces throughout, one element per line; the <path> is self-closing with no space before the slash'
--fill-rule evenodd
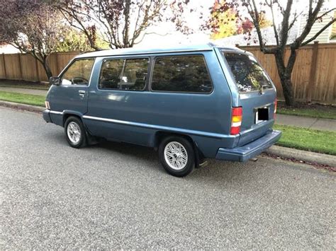
<path id="1" fill-rule="evenodd" d="M 280 79 L 274 55 L 263 54 L 259 47 L 240 47 L 252 52 L 266 69 L 283 98 Z M 51 54 L 49 64 L 57 75 L 78 52 Z M 289 49 L 286 49 L 286 58 Z M 0 57 L 0 78 L 26 81 L 47 81 L 43 66 L 28 54 L 2 54 Z M 298 49 L 292 74 L 293 91 L 296 100 L 336 104 L 336 44 L 306 45 Z"/>

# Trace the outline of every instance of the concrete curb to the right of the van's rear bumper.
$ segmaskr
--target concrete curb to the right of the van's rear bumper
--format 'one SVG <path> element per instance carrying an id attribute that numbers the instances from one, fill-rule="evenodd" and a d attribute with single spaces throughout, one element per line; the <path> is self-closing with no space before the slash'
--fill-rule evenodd
<path id="1" fill-rule="evenodd" d="M 336 156 L 324 153 L 313 153 L 283 146 L 271 146 L 265 153 L 285 158 L 295 158 L 296 160 L 303 160 L 310 163 L 329 165 L 330 167 L 336 166 Z"/>

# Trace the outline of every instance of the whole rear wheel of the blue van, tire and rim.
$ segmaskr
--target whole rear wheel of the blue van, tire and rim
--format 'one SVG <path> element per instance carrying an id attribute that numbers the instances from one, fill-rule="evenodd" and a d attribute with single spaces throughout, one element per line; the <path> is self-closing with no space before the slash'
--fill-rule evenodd
<path id="1" fill-rule="evenodd" d="M 159 160 L 167 173 L 184 177 L 195 168 L 192 144 L 180 136 L 168 136 L 159 145 Z"/>

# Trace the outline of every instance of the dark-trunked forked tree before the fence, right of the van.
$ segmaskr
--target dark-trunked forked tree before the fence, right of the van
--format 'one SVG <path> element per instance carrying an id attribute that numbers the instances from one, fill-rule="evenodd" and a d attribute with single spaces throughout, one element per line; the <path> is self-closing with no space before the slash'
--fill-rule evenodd
<path id="1" fill-rule="evenodd" d="M 334 9 L 329 9 L 324 11 L 323 14 L 320 14 L 320 10 L 323 6 L 324 0 L 308 0 L 308 8 L 303 11 L 291 11 L 293 10 L 293 0 L 288 0 L 286 6 L 281 6 L 279 0 L 263 0 L 259 4 L 255 0 L 233 0 L 228 4 L 234 6 L 244 6 L 249 13 L 249 16 L 252 20 L 254 28 L 257 32 L 259 39 L 260 50 L 265 54 L 274 54 L 276 59 L 276 66 L 278 69 L 278 74 L 281 80 L 281 86 L 284 91 L 284 98 L 286 100 L 286 105 L 293 105 L 295 103 L 292 83 L 291 83 L 291 74 L 293 72 L 293 66 L 296 61 L 296 50 L 299 47 L 307 45 L 309 42 L 315 40 L 318 35 L 323 33 L 332 23 L 336 21 L 336 18 L 330 18 L 330 21 L 327 22 L 323 28 L 318 30 L 312 37 L 306 39 L 315 22 L 320 21 L 321 18 L 326 18 L 327 14 Z M 274 36 L 276 40 L 275 46 L 267 46 L 267 42 L 264 40 L 262 35 L 262 28 L 259 25 L 260 13 L 263 13 L 262 8 L 268 8 L 271 13 Z M 293 42 L 289 42 L 289 31 L 293 28 L 293 25 L 298 21 L 299 16 L 306 14 L 306 24 L 301 31 L 301 34 L 296 37 Z M 276 23 L 276 15 L 281 16 L 281 21 Z M 304 16 L 302 17 L 304 18 Z M 284 54 L 286 45 L 291 49 L 291 53 L 288 60 L 285 60 Z"/>

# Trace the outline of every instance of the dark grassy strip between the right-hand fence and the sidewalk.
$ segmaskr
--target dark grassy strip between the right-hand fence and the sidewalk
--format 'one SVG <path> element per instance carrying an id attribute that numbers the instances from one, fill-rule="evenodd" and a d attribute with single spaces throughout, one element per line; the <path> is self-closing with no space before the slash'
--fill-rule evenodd
<path id="1" fill-rule="evenodd" d="M 336 106 L 302 105 L 301 107 L 286 107 L 284 105 L 279 105 L 276 113 L 303 117 L 317 117 L 322 119 L 336 119 Z"/>

